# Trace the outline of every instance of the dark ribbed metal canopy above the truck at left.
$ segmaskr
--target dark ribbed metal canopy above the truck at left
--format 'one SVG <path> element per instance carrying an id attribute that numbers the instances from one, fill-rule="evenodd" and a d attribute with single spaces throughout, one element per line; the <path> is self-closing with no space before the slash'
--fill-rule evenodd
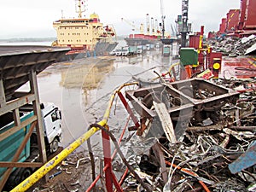
<path id="1" fill-rule="evenodd" d="M 0 79 L 3 79 L 6 101 L 26 84 L 32 70 L 37 74 L 42 72 L 68 50 L 50 46 L 0 46 Z"/>

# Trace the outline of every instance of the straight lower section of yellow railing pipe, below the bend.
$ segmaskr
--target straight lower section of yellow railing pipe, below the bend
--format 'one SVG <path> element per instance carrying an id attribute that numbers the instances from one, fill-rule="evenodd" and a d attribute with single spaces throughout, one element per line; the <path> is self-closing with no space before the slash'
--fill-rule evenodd
<path id="1" fill-rule="evenodd" d="M 102 122 L 99 123 L 102 125 Z M 44 166 L 41 166 L 36 172 L 34 172 L 30 177 L 27 177 L 23 182 L 12 189 L 11 192 L 21 192 L 29 189 L 34 183 L 38 182 L 38 180 L 46 173 L 48 173 L 51 169 L 61 163 L 68 154 L 71 154 L 76 148 L 78 148 L 82 143 L 84 143 L 89 137 L 96 133 L 99 129 L 96 127 L 91 128 L 89 131 L 85 132 L 82 137 L 79 137 L 75 142 L 71 143 L 67 148 L 63 149 L 60 154 L 57 154 L 54 158 L 49 160 Z"/>

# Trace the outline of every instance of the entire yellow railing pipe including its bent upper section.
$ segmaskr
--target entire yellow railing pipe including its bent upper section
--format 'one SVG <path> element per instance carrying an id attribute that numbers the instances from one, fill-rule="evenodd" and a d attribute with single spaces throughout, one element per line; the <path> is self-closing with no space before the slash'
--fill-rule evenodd
<path id="1" fill-rule="evenodd" d="M 133 84 L 138 84 L 138 83 L 134 82 L 134 83 L 122 84 L 121 86 L 119 86 L 117 90 L 113 91 L 113 94 L 110 97 L 110 100 L 108 102 L 108 108 L 104 113 L 102 121 L 100 121 L 98 125 L 102 125 L 102 126 L 107 125 L 108 118 L 110 115 L 110 110 L 113 105 L 113 99 L 116 93 L 118 93 L 125 86 L 129 86 Z M 67 148 L 64 148 L 60 154 L 57 154 L 54 158 L 52 158 L 46 164 L 44 164 L 44 166 L 41 166 L 30 177 L 27 177 L 23 182 L 17 185 L 15 189 L 12 189 L 11 192 L 21 192 L 21 191 L 26 191 L 26 189 L 29 189 L 34 183 L 37 183 L 40 178 L 44 177 L 46 173 L 48 173 L 55 166 L 61 163 L 61 161 L 64 160 L 68 156 L 68 154 L 71 154 L 76 148 L 79 148 L 79 146 L 82 143 L 84 143 L 89 137 L 93 136 L 98 130 L 99 130 L 98 128 L 92 127 L 89 131 L 85 132 L 83 136 L 79 137 L 75 142 L 71 143 Z"/>

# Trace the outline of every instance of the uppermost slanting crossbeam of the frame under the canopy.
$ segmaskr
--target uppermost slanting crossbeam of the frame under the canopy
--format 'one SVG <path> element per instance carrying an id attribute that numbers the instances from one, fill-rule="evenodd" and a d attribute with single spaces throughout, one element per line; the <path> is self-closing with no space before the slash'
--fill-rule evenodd
<path id="1" fill-rule="evenodd" d="M 0 85 L 1 86 L 1 85 Z M 6 105 L 0 108 L 0 116 L 4 113 L 11 112 L 15 110 L 15 108 L 20 108 L 21 106 L 30 103 L 35 100 L 35 96 L 33 94 L 28 94 L 27 96 L 22 96 L 18 99 L 15 99 L 11 102 L 7 102 Z"/>

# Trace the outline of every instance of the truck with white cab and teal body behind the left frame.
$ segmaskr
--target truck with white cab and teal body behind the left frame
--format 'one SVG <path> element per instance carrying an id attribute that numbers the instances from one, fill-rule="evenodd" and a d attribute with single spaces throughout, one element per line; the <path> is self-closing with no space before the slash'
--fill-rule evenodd
<path id="1" fill-rule="evenodd" d="M 61 130 L 61 111 L 55 106 L 54 103 L 41 104 L 41 112 L 44 125 L 44 141 L 46 154 L 53 154 L 59 148 L 61 142 L 62 130 Z M 32 117 L 32 105 L 26 105 L 19 109 L 20 122 Z M 12 118 L 12 113 L 5 113 L 0 116 L 1 128 L 0 133 L 9 131 L 15 124 Z M 4 125 L 3 125 L 4 124 Z M 29 131 L 31 125 L 26 125 L 20 131 L 16 131 L 11 136 L 0 141 L 0 161 L 11 161 L 20 143 L 23 141 L 26 133 Z M 26 147 L 20 154 L 18 162 L 34 162 L 38 160 L 38 142 L 36 130 L 33 130 L 32 136 L 26 143 Z M 0 167 L 0 179 L 3 177 L 3 173 L 7 168 Z M 6 184 L 9 188 L 15 187 L 26 177 L 32 174 L 35 168 L 32 167 L 19 167 L 13 169 L 9 180 Z"/>

